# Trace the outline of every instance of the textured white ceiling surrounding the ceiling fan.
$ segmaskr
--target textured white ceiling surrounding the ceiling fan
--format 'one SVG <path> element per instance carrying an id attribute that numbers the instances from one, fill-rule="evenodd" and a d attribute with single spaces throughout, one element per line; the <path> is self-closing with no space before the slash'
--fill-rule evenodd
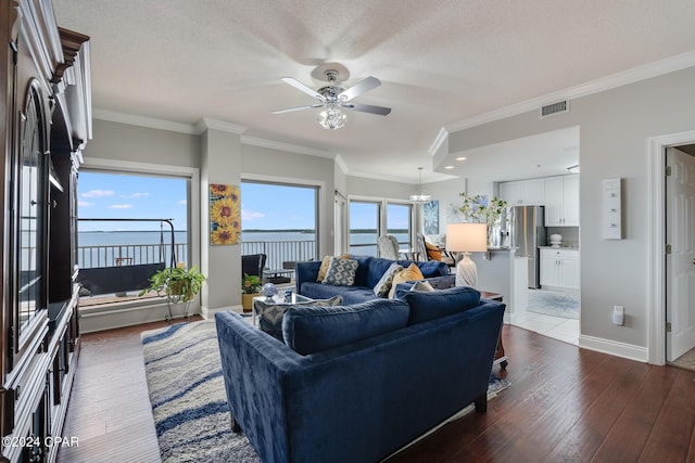
<path id="1" fill-rule="evenodd" d="M 91 37 L 92 101 L 99 114 L 192 125 L 202 117 L 247 127 L 243 136 L 340 155 L 350 175 L 417 182 L 443 127 L 695 50 L 693 0 L 53 0 L 60 26 Z M 328 63 L 334 63 L 329 65 Z M 693 63 L 695 64 L 695 63 Z M 321 69 L 345 70 L 343 87 L 382 81 L 330 131 L 319 110 L 280 81 L 309 87 Z M 567 133 L 564 133 L 567 136 Z M 561 145 L 534 141 L 561 139 Z M 521 141 L 523 152 L 570 159 L 578 145 L 556 134 Z M 503 156 L 517 177 L 547 158 L 504 144 L 466 153 L 466 176 L 489 177 L 476 156 Z M 536 153 L 536 154 L 538 154 Z M 578 155 L 578 150 L 573 151 Z M 540 154 L 538 154 L 540 156 Z M 448 160 L 448 159 L 447 159 Z M 570 159 L 570 162 L 572 162 Z M 477 166 L 477 167 L 472 167 Z M 497 164 L 500 166 L 500 164 Z M 566 166 L 563 166 L 565 168 Z M 504 180 L 495 178 L 496 180 Z"/>

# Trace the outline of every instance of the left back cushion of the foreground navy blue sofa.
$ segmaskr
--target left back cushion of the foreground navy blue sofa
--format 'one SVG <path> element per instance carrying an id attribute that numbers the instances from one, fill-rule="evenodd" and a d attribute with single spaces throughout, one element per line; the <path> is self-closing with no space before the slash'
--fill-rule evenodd
<path id="1" fill-rule="evenodd" d="M 291 307 L 285 312 L 285 343 L 306 356 L 403 329 L 408 305 L 374 299 L 354 306 Z"/>

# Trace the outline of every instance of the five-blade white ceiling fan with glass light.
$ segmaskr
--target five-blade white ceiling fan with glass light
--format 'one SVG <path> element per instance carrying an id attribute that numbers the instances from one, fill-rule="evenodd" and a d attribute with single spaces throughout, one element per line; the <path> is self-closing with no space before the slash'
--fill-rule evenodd
<path id="1" fill-rule="evenodd" d="M 326 69 L 324 72 L 324 75 L 326 76 L 326 80 L 328 80 L 328 86 L 321 87 L 318 90 L 314 90 L 305 86 L 293 77 L 283 77 L 283 82 L 289 83 L 292 87 L 308 94 L 309 97 L 315 98 L 316 100 L 318 100 L 318 102 L 306 106 L 295 106 L 288 107 L 286 110 L 274 111 L 273 114 L 291 113 L 293 111 L 309 110 L 314 107 L 326 107 L 326 110 L 321 111 L 318 116 L 318 124 L 320 124 L 321 127 L 326 129 L 334 130 L 345 125 L 346 116 L 340 111 L 340 108 L 378 114 L 380 116 L 386 116 L 391 113 L 390 107 L 372 106 L 370 104 L 359 104 L 351 102 L 351 100 L 355 97 L 358 97 L 366 91 L 379 87 L 381 85 L 381 81 L 376 77 L 367 77 L 358 83 L 348 89 L 343 89 L 342 87 L 336 85 L 336 81 L 338 80 L 338 70 Z"/>

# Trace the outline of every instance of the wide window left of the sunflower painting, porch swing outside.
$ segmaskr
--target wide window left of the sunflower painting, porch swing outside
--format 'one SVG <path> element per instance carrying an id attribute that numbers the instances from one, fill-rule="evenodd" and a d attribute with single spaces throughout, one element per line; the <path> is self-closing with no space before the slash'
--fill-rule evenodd
<path id="1" fill-rule="evenodd" d="M 80 170 L 79 268 L 169 266 L 172 252 L 176 262 L 189 267 L 189 190 L 190 180 L 182 177 Z M 172 227 L 159 219 L 172 219 L 174 246 Z"/>

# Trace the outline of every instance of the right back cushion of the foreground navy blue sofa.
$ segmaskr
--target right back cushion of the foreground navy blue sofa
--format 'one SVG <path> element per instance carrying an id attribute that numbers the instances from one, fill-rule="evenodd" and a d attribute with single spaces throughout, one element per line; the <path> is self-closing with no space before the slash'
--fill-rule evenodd
<path id="1" fill-rule="evenodd" d="M 412 291 L 405 294 L 405 301 L 410 307 L 408 324 L 416 324 L 478 307 L 480 292 L 469 286 L 433 292 Z"/>

